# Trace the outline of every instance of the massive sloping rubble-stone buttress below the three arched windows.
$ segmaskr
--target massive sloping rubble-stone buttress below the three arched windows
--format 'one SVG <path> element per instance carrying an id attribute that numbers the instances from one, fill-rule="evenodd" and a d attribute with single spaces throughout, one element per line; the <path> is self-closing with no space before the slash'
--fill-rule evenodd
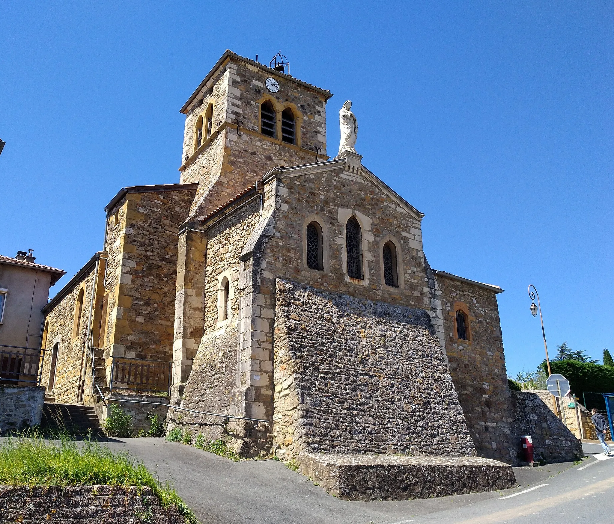
<path id="1" fill-rule="evenodd" d="M 274 451 L 475 455 L 429 315 L 278 280 Z"/>

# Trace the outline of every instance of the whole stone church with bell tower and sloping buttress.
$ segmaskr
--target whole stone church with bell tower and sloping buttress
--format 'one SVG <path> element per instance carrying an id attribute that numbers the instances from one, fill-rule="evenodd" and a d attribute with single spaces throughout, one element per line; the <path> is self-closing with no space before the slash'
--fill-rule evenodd
<path id="1" fill-rule="evenodd" d="M 50 401 L 96 403 L 149 363 L 194 411 L 171 426 L 244 456 L 518 461 L 503 290 L 432 269 L 424 215 L 353 144 L 327 154 L 331 97 L 223 53 L 181 109 L 179 183 L 122 188 L 103 250 L 45 307 Z"/>

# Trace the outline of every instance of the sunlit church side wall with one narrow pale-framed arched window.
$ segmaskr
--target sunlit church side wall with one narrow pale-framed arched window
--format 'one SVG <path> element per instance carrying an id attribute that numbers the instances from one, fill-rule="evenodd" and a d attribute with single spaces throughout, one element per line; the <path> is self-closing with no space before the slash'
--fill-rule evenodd
<path id="1" fill-rule="evenodd" d="M 185 385 L 181 406 L 220 414 L 236 415 L 233 390 L 238 386 L 239 255 L 260 218 L 260 199 L 254 198 L 206 231 L 207 264 L 204 288 L 204 330 Z M 219 287 L 228 278 L 229 315 L 219 318 Z M 272 376 L 271 376 L 272 380 Z M 187 428 L 193 436 L 202 433 L 214 440 L 232 433 L 239 441 L 246 432 L 223 426 L 219 417 L 171 412 L 171 425 Z"/>

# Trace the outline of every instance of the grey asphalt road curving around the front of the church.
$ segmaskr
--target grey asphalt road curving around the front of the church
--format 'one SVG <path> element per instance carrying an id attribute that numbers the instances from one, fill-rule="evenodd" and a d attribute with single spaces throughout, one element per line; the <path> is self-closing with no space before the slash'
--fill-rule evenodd
<path id="1" fill-rule="evenodd" d="M 217 457 L 163 439 L 107 442 L 141 458 L 204 524 L 573 524 L 614 522 L 614 460 L 515 468 L 519 487 L 438 499 L 349 502 L 278 461 Z M 601 456 L 601 458 L 605 458 Z M 524 493 L 524 490 L 533 488 Z M 518 495 L 515 495 L 518 493 Z M 514 495 L 511 498 L 503 498 Z"/>

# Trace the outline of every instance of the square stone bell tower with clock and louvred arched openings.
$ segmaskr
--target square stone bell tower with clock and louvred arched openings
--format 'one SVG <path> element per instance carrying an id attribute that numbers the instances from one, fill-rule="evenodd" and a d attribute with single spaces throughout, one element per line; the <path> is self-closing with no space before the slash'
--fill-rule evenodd
<path id="1" fill-rule="evenodd" d="M 293 78 L 281 54 L 265 66 L 223 53 L 181 109 L 181 183 L 199 183 L 188 220 L 222 206 L 272 168 L 327 160 L 331 96 Z"/>

